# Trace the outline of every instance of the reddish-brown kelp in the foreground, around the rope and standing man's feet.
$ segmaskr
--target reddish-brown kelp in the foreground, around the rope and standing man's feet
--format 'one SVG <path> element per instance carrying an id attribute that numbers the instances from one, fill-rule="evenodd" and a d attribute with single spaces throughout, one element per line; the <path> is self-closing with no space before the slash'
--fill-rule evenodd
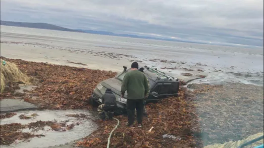
<path id="1" fill-rule="evenodd" d="M 120 125 L 111 137 L 111 148 L 202 148 L 196 110 L 186 101 L 187 90 L 181 88 L 179 97 L 164 99 L 146 106 L 148 118 L 143 127 L 127 127 L 127 117 L 117 116 Z M 116 120 L 98 121 L 99 130 L 78 142 L 77 146 L 106 148 L 109 133 Z"/>

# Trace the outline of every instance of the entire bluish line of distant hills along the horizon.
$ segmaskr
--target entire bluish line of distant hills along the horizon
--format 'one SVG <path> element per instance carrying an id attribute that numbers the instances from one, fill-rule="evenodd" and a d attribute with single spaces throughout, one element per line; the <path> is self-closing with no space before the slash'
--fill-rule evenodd
<path id="1" fill-rule="evenodd" d="M 97 34 L 97 35 L 107 35 L 107 36 L 116 36 L 116 37 L 133 37 L 133 38 L 145 38 L 145 39 L 156 39 L 156 40 L 166 40 L 166 41 L 178 41 L 178 42 L 189 42 L 189 43 L 200 43 L 195 41 L 184 41 L 170 38 L 156 38 L 156 37 L 144 37 L 128 34 L 115 34 L 112 32 L 106 31 L 94 31 L 94 30 L 83 30 L 83 29 L 68 29 L 52 24 L 47 23 L 25 23 L 25 22 L 10 22 L 10 21 L 0 21 L 0 25 L 5 26 L 16 26 L 16 27 L 27 27 L 27 28 L 37 28 L 37 29 L 49 29 L 49 30 L 58 30 L 58 31 L 68 31 L 68 32 L 81 32 L 88 34 Z"/>

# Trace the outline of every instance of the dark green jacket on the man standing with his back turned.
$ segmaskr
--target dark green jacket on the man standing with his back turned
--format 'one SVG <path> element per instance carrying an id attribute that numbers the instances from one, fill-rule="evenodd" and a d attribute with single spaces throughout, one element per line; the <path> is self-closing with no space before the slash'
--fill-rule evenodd
<path id="1" fill-rule="evenodd" d="M 149 92 L 148 79 L 145 74 L 134 70 L 125 74 L 121 86 L 121 94 L 127 91 L 126 99 L 144 99 Z"/>

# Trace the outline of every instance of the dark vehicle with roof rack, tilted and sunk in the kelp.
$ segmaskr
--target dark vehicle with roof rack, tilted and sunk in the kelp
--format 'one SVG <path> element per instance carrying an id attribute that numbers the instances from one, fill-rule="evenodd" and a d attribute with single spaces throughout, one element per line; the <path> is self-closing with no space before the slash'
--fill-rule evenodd
<path id="1" fill-rule="evenodd" d="M 121 85 L 122 80 L 126 73 L 131 71 L 131 69 L 127 69 L 127 67 L 123 67 L 123 72 L 117 74 L 113 78 L 106 79 L 100 82 L 96 88 L 92 96 L 89 98 L 89 103 L 94 107 L 101 105 L 104 103 L 102 99 L 103 94 L 106 92 L 107 88 L 110 88 L 116 97 L 116 103 L 118 110 L 115 112 L 117 114 L 123 114 L 126 112 L 126 97 L 127 93 L 125 93 L 124 98 L 121 98 Z M 178 96 L 179 91 L 179 79 L 169 76 L 163 72 L 158 71 L 157 69 L 144 67 L 144 74 L 149 79 L 149 95 L 144 100 L 144 104 L 148 104 L 150 102 L 157 102 L 158 100 L 165 99 L 171 96 Z"/>

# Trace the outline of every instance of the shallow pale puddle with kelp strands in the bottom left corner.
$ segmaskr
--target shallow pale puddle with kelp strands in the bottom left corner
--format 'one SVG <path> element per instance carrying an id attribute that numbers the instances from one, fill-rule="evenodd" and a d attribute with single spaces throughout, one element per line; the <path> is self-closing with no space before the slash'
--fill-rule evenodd
<path id="1" fill-rule="evenodd" d="M 0 148 L 47 148 L 58 145 L 63 145 L 74 140 L 78 140 L 80 138 L 86 137 L 90 135 L 97 129 L 97 125 L 92 121 L 94 114 L 85 110 L 65 110 L 65 111 L 17 111 L 17 114 L 11 118 L 2 119 L 0 125 L 10 124 L 10 123 L 21 123 L 28 124 L 31 122 L 36 122 L 39 120 L 42 121 L 54 121 L 57 122 L 65 121 L 67 125 L 72 123 L 79 123 L 79 125 L 75 125 L 71 130 L 66 130 L 65 132 L 57 132 L 51 130 L 49 126 L 46 126 L 44 130 L 39 130 L 34 134 L 43 134 L 45 137 L 41 138 L 32 138 L 29 142 L 15 141 L 10 146 L 0 146 Z M 25 114 L 30 116 L 33 113 L 37 113 L 38 116 L 35 116 L 31 119 L 20 119 L 19 115 Z M 68 114 L 80 114 L 83 113 L 87 118 L 76 118 L 66 116 Z M 32 132 L 32 129 L 26 128 L 22 129 L 22 132 Z M 33 133 L 33 132 L 32 132 Z"/>

